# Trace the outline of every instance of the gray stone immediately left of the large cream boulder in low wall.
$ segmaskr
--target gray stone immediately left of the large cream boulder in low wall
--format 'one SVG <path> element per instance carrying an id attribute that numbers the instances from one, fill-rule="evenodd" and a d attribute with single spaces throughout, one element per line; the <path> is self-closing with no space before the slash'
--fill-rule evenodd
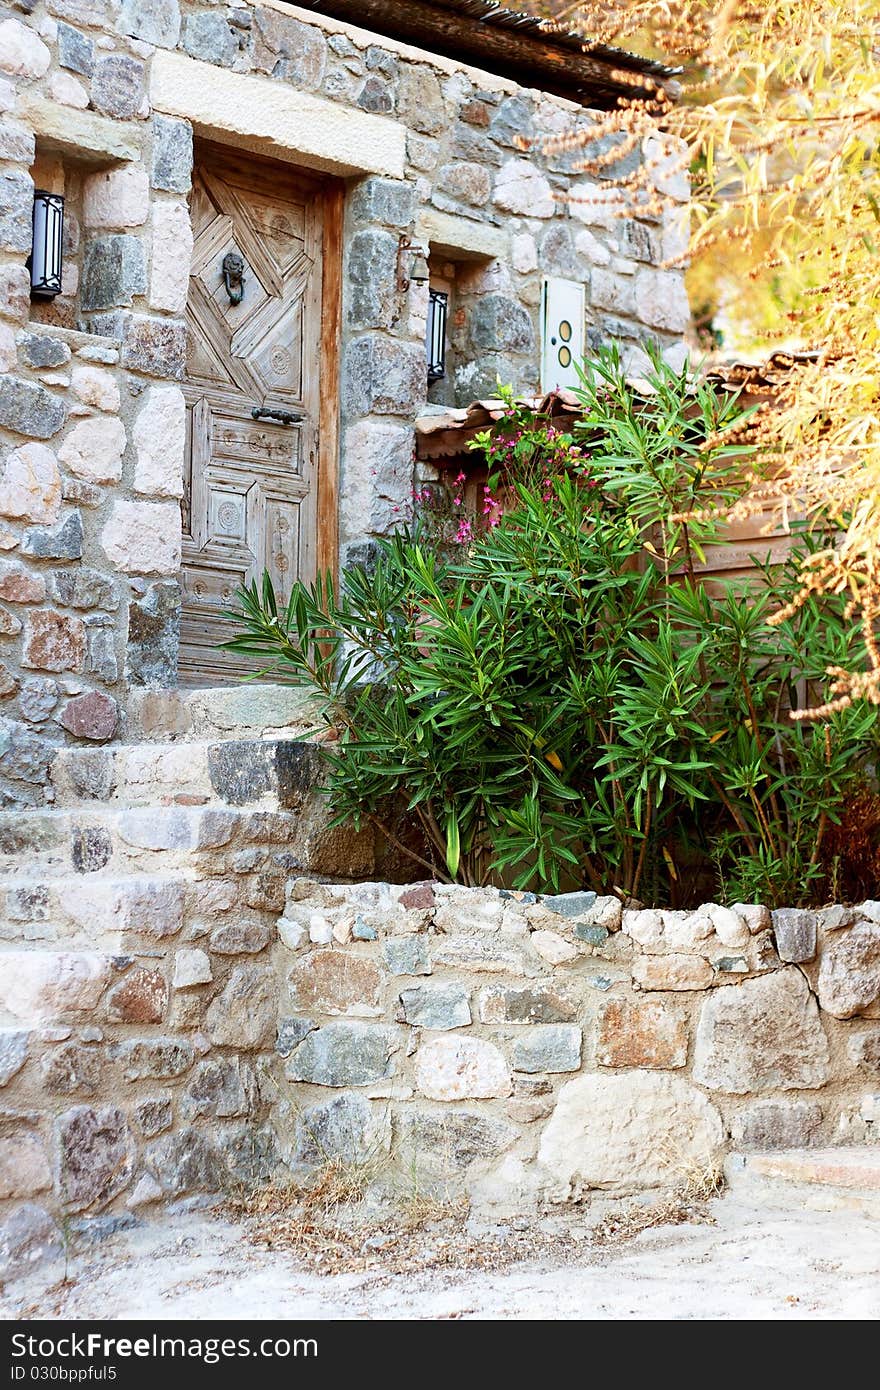
<path id="1" fill-rule="evenodd" d="M 519 1138 L 513 1125 L 473 1111 L 406 1109 L 399 1118 L 398 1151 L 407 1170 L 456 1177 L 487 1163 Z"/>

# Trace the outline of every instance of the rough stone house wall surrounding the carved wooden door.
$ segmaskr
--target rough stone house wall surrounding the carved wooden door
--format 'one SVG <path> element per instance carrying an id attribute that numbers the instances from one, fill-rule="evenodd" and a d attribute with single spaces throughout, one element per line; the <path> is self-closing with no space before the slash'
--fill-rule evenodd
<path id="1" fill-rule="evenodd" d="M 172 60 L 189 64 L 177 88 Z M 687 186 L 649 142 L 602 172 L 649 158 L 667 211 L 621 218 L 577 154 L 541 153 L 594 117 L 488 74 L 271 3 L 17 0 L 0 18 L 0 805 L 47 801 L 58 742 L 124 739 L 129 689 L 177 680 L 193 128 L 168 92 L 221 79 L 259 85 L 238 107 L 222 88 L 234 142 L 289 96 L 311 103 L 309 140 L 348 111 L 405 152 L 393 177 L 357 172 L 375 170 L 368 138 L 329 160 L 346 177 L 342 381 L 325 385 L 345 559 L 413 484 L 427 288 L 398 288 L 402 235 L 457 265 L 459 399 L 496 374 L 537 388 L 544 274 L 589 286 L 592 343 L 637 361 L 649 332 L 680 354 L 683 277 L 659 265 L 681 250 Z M 67 196 L 64 289 L 43 304 L 25 270 L 35 185 Z"/>

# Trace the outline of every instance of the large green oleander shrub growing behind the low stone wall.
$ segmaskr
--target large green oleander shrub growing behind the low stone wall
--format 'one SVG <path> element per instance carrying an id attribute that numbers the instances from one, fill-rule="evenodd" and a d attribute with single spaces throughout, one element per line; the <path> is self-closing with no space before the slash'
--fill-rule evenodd
<path id="1" fill-rule="evenodd" d="M 323 745 L 335 819 L 392 833 L 403 808 L 406 851 L 441 877 L 822 898 L 823 837 L 869 777 L 876 712 L 788 712 L 855 634 L 842 605 L 767 627 L 795 562 L 748 592 L 698 581 L 738 495 L 744 411 L 658 354 L 651 388 L 637 398 L 608 353 L 574 432 L 509 400 L 478 441 L 503 517 L 438 545 L 428 507 L 338 594 L 298 584 L 284 610 L 264 575 L 227 645 L 317 695 L 339 731 Z"/>

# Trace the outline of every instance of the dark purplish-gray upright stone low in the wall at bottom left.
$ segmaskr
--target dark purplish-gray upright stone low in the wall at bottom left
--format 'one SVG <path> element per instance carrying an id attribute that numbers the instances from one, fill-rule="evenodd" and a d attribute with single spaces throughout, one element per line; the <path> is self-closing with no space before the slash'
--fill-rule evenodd
<path id="1" fill-rule="evenodd" d="M 76 1105 L 58 1116 L 58 1186 L 74 1211 L 106 1207 L 133 1175 L 138 1151 L 115 1105 Z"/>

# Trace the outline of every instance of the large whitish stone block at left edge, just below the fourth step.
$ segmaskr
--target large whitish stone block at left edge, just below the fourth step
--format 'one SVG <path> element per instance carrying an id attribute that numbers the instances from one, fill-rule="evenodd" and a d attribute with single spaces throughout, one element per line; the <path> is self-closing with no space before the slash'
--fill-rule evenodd
<path id="1" fill-rule="evenodd" d="M 7 951 L 1 958 L 0 1004 L 28 1023 L 97 1006 L 110 960 L 93 951 Z"/>

